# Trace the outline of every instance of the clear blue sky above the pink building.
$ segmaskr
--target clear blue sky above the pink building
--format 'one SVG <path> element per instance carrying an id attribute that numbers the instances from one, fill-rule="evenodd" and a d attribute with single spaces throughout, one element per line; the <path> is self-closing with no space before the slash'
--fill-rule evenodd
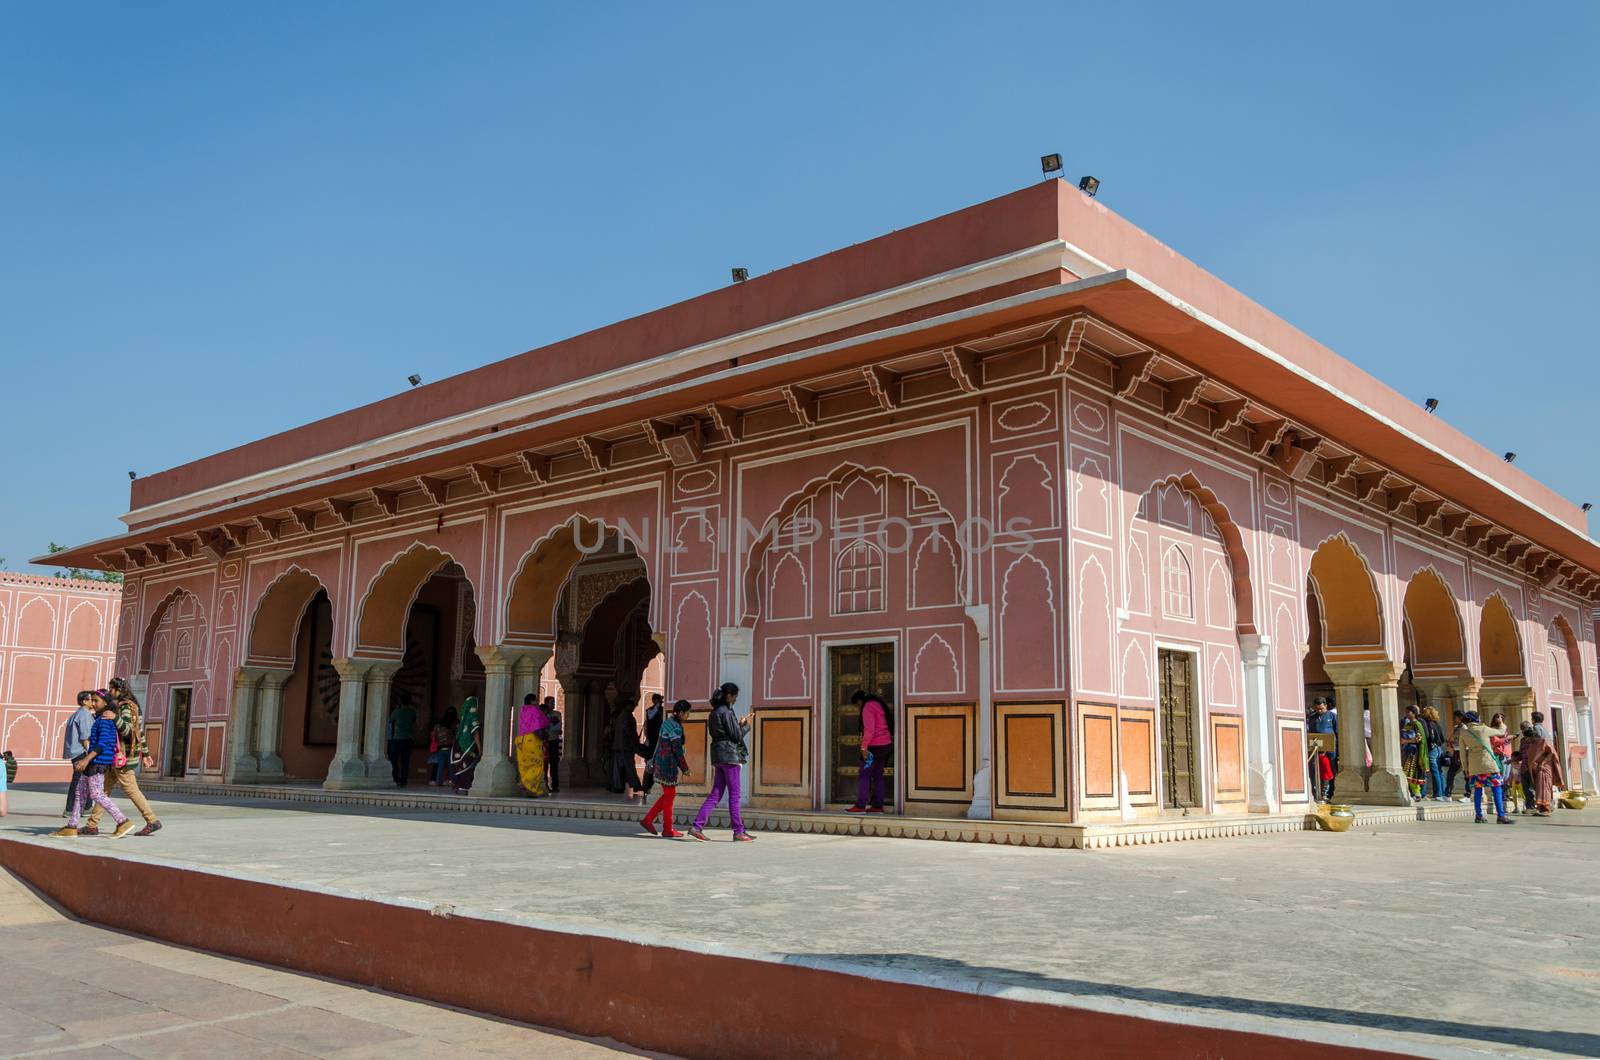
<path id="1" fill-rule="evenodd" d="M 1597 3 L 13 0 L 0 556 L 120 532 L 128 469 L 998 195 L 1048 151 L 1600 501 L 1597 70 Z"/>

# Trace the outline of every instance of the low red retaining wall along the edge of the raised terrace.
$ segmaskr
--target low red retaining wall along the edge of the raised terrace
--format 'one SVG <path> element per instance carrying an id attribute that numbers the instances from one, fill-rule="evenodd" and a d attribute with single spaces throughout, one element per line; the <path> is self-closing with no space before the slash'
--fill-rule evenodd
<path id="1" fill-rule="evenodd" d="M 434 916 L 0 839 L 86 921 L 685 1057 L 1389 1057 L 933 986 Z"/>

